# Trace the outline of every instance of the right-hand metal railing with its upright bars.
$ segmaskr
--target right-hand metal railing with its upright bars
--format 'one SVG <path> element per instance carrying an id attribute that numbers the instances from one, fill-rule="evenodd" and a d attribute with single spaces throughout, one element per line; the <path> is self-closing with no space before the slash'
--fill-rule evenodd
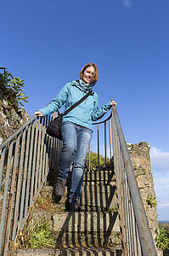
<path id="1" fill-rule="evenodd" d="M 149 255 L 149 256 L 155 256 L 155 244 L 153 241 L 153 237 L 151 234 L 151 231 L 149 229 L 149 223 L 148 219 L 146 217 L 146 213 L 144 210 L 144 204 L 141 199 L 141 195 L 139 193 L 138 189 L 138 183 L 133 171 L 132 162 L 130 159 L 130 155 L 127 150 L 127 143 L 125 141 L 125 137 L 123 135 L 122 129 L 121 129 L 121 123 L 116 111 L 115 107 L 112 107 L 112 115 L 113 115 L 113 125 L 114 125 L 114 147 L 116 145 L 116 148 L 114 150 L 116 151 L 115 155 L 115 168 L 116 172 L 118 172 L 118 178 L 120 179 L 118 181 L 119 185 L 117 185 L 119 193 L 121 194 L 121 208 L 123 208 L 123 212 L 121 212 L 122 216 L 125 218 L 126 214 L 129 213 L 130 220 L 126 223 L 123 223 L 123 227 L 128 228 L 128 230 L 124 230 L 124 232 L 129 232 L 129 227 L 127 225 L 132 225 L 132 231 L 134 227 L 134 222 L 136 223 L 135 227 L 135 235 L 138 236 L 138 239 L 141 244 L 141 250 L 143 254 L 135 254 L 134 255 Z M 116 143 L 115 143 L 116 140 Z M 122 163 L 121 163 L 122 162 Z M 122 166 L 123 165 L 123 166 Z M 125 201 L 126 197 L 126 201 Z M 131 198 L 131 199 L 130 199 Z M 123 201 L 123 202 L 122 202 Z M 130 205 L 127 205 L 127 201 L 129 201 Z M 125 207 L 126 206 L 126 207 Z M 131 208 L 131 211 L 127 211 L 127 207 Z M 133 209 L 132 209 L 133 207 Z M 122 210 L 122 209 L 121 209 Z M 133 216 L 134 215 L 134 216 Z M 134 219 L 132 219 L 134 217 Z M 123 220 L 124 221 L 124 220 Z M 138 234 L 137 234 L 138 232 Z M 128 249 L 126 248 L 126 255 L 130 255 L 129 253 L 132 253 L 137 251 L 138 252 L 138 241 L 134 241 L 134 237 L 132 234 L 124 234 L 125 236 L 128 236 L 128 239 L 126 239 L 126 245 Z M 130 241 L 128 241 L 130 240 Z M 130 242 L 132 241 L 132 244 Z M 135 242 L 135 246 L 134 246 Z"/>

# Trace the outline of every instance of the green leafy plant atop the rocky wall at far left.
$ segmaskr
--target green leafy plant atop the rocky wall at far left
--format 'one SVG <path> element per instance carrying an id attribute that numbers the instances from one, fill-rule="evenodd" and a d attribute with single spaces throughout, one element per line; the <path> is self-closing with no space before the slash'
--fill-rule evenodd
<path id="1" fill-rule="evenodd" d="M 19 77 L 13 77 L 6 68 L 3 69 L 3 73 L 0 73 L 0 85 L 4 95 L 7 98 L 7 102 L 10 108 L 18 108 L 18 103 L 24 106 L 22 102 L 27 102 L 28 96 L 25 96 L 23 92 L 24 79 L 21 80 Z"/>

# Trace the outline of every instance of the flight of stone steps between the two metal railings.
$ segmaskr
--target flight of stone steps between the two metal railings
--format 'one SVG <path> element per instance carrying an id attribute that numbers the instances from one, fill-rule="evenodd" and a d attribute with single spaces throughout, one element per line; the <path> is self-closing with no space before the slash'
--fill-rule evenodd
<path id="1" fill-rule="evenodd" d="M 56 232 L 56 248 L 68 248 L 75 250 L 65 255 L 121 255 L 121 231 L 116 199 L 115 175 L 113 171 L 85 172 L 82 183 L 82 195 L 80 204 L 82 212 L 67 212 L 69 209 L 70 177 L 65 186 L 65 195 L 57 198 L 54 195 L 54 182 L 57 173 L 50 175 L 52 185 L 43 186 L 37 199 L 37 208 L 33 212 L 32 221 L 46 219 L 49 227 Z M 42 210 L 41 201 L 49 207 Z M 46 205 L 43 207 L 45 208 Z M 49 212 L 51 210 L 51 212 Z M 87 251 L 92 247 L 99 251 Z M 79 251 L 79 247 L 85 247 L 86 251 Z M 100 247 L 107 247 L 100 249 Z M 111 250 L 111 251 L 110 251 Z M 63 251 L 62 251 L 63 253 Z M 108 254 L 107 254 L 108 253 Z M 42 253 L 41 253 L 42 254 Z M 26 255 L 26 254 L 25 254 Z M 37 254 L 36 254 L 37 255 Z M 57 254 L 56 254 L 57 255 Z M 59 254 L 58 254 L 59 255 Z M 64 254 L 63 254 L 64 255 Z"/>

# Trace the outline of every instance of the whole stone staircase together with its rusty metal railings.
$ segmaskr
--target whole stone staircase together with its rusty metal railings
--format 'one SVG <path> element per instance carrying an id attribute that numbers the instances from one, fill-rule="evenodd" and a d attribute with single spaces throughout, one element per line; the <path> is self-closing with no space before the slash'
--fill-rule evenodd
<path id="1" fill-rule="evenodd" d="M 14 245 L 23 230 L 29 207 L 34 206 L 37 196 L 40 193 L 52 196 L 52 187 L 46 186 L 48 172 L 57 172 L 62 147 L 61 141 L 45 133 L 46 125 L 53 118 L 33 117 L 0 145 L 0 250 L 3 255 L 10 253 L 9 243 Z M 67 212 L 66 198 L 62 198 L 53 213 L 40 210 L 34 213 L 35 219 L 48 216 L 57 232 L 55 251 L 47 251 L 55 255 L 60 252 L 63 255 L 157 255 L 116 108 L 112 108 L 108 119 L 96 125 L 98 155 L 99 127 L 104 125 L 105 166 L 101 170 L 98 157 L 98 170 L 90 171 L 89 161 L 81 196 L 84 212 Z M 103 137 L 103 133 L 101 135 Z M 26 254 L 20 251 L 18 255 Z"/>

